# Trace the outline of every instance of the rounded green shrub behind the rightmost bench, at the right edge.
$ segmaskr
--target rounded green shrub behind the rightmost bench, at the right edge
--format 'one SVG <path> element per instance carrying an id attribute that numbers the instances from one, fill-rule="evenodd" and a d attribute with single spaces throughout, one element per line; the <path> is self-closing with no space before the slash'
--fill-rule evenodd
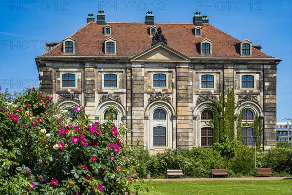
<path id="1" fill-rule="evenodd" d="M 292 150 L 274 148 L 261 153 L 258 163 L 262 168 L 272 168 L 275 173 L 292 174 Z"/>

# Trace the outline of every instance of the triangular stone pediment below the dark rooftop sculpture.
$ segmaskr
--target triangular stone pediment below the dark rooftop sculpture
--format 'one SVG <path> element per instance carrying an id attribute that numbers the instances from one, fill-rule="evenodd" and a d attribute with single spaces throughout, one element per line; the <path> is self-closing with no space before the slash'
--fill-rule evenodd
<path id="1" fill-rule="evenodd" d="M 133 56 L 131 61 L 189 61 L 190 58 L 177 50 L 158 43 L 143 52 Z"/>

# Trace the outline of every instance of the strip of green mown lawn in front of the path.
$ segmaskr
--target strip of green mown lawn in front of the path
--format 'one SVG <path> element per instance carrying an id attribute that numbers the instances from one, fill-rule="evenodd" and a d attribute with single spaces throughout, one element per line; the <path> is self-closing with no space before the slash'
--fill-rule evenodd
<path id="1" fill-rule="evenodd" d="M 145 195 L 292 195 L 292 179 L 159 181 Z"/>

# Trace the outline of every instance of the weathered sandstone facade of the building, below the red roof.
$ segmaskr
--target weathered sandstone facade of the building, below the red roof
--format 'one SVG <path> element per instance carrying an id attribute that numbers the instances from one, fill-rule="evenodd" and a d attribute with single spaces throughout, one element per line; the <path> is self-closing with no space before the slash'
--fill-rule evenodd
<path id="1" fill-rule="evenodd" d="M 40 87 L 51 93 L 54 101 L 60 101 L 64 109 L 72 108 L 73 103 L 85 106 L 90 118 L 101 122 L 108 107 L 114 106 L 119 111 L 114 122 L 127 123 L 132 129 L 125 137 L 140 141 L 151 154 L 166 148 L 201 146 L 202 129 L 208 127 L 202 120 L 206 103 L 218 100 L 221 92 L 226 95 L 230 89 L 235 91 L 235 114 L 244 108 L 253 117 L 259 116 L 264 124 L 264 148 L 275 147 L 279 59 L 191 58 L 174 50 L 171 44 L 158 43 L 127 58 L 42 55 L 36 61 Z M 75 75 L 74 87 L 62 86 L 64 74 Z M 106 86 L 107 74 L 116 76 L 114 87 Z M 165 75 L 164 86 L 154 86 L 156 74 Z M 213 77 L 212 87 L 203 86 L 204 75 Z M 245 75 L 253 76 L 253 87 L 242 88 Z M 157 109 L 165 112 L 165 119 L 154 117 Z M 154 143 L 155 127 L 165 128 L 165 144 Z"/>

